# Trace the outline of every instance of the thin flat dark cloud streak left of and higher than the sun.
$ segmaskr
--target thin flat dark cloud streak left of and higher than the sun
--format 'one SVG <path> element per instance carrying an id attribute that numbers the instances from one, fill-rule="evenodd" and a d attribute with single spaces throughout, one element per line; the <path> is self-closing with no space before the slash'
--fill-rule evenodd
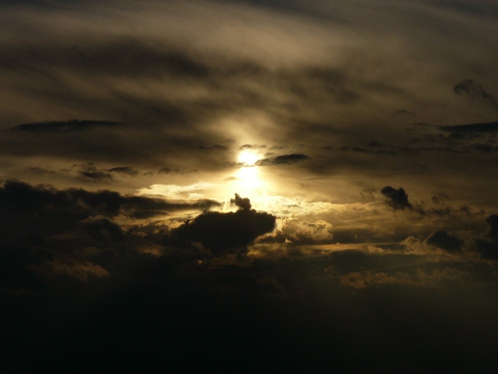
<path id="1" fill-rule="evenodd" d="M 72 121 L 47 121 L 36 123 L 25 123 L 14 126 L 5 130 L 6 132 L 40 132 L 40 133 L 65 133 L 72 131 L 91 130 L 96 127 L 118 127 L 124 123 L 114 121 L 91 121 L 91 120 L 72 120 Z"/>

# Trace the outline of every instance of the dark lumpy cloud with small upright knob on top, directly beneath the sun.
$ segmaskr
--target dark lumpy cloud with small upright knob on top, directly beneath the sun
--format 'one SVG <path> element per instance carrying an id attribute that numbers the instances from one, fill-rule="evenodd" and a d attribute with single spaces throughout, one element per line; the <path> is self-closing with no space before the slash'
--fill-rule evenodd
<path id="1" fill-rule="evenodd" d="M 250 209 L 248 198 L 236 194 L 231 200 L 239 207 L 236 212 L 202 213 L 171 231 L 173 242 L 185 245 L 200 242 L 215 256 L 227 252 L 244 252 L 259 235 L 275 228 L 274 215 Z"/>

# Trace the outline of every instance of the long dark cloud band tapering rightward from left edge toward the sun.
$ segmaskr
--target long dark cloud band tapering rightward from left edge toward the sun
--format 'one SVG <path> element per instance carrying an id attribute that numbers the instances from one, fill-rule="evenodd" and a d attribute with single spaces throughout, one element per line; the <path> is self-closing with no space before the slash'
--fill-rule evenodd
<path id="1" fill-rule="evenodd" d="M 220 205 L 212 200 L 194 203 L 171 203 L 159 198 L 124 196 L 118 192 L 84 189 L 56 189 L 48 186 L 33 187 L 22 182 L 7 181 L 0 188 L 2 221 L 15 227 L 15 232 L 34 230 L 54 233 L 89 216 L 113 217 L 124 214 L 130 217 L 152 217 L 169 210 L 209 208 Z M 15 223 L 14 223 L 15 222 Z M 33 226 L 30 227 L 30 224 Z"/>

